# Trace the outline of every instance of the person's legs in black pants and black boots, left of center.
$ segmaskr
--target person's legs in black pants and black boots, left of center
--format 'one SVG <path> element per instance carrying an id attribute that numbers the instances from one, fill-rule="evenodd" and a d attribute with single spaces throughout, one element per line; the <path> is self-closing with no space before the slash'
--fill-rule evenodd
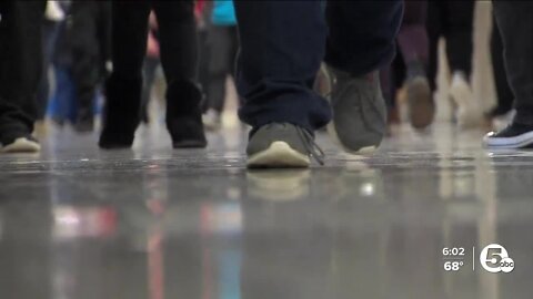
<path id="1" fill-rule="evenodd" d="M 105 109 L 99 145 L 128 148 L 140 123 L 142 65 L 147 53 L 148 19 L 158 18 L 161 63 L 168 83 L 167 128 L 172 146 L 205 147 L 197 84 L 198 40 L 194 2 L 112 1 L 113 71 L 105 83 Z"/>

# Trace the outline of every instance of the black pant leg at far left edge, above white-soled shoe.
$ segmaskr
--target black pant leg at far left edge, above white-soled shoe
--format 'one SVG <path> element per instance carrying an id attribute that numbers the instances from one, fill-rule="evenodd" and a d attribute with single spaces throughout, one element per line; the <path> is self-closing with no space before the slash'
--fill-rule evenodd
<path id="1" fill-rule="evenodd" d="M 33 131 L 44 8 L 46 1 L 0 1 L 0 142 Z"/>

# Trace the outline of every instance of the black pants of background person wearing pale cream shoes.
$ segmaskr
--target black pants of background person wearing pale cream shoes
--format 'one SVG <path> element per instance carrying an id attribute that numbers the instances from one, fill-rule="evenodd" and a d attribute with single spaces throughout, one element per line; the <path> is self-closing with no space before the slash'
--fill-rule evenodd
<path id="1" fill-rule="evenodd" d="M 428 1 L 428 35 L 430 64 L 428 76 L 436 90 L 439 66 L 439 39 L 446 40 L 446 56 L 452 72 L 461 71 L 467 78 L 472 72 L 472 32 L 474 1 Z"/>

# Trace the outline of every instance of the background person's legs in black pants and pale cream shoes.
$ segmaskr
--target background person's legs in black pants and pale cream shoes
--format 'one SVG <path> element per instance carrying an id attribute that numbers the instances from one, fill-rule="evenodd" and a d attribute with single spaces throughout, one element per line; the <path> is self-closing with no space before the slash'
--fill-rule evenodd
<path id="1" fill-rule="evenodd" d="M 461 127 L 475 126 L 481 109 L 474 105 L 470 76 L 472 74 L 474 0 L 428 1 L 428 34 L 430 38 L 429 79 L 436 90 L 439 40 L 445 39 L 446 56 L 452 74 L 450 95 L 457 106 Z"/>

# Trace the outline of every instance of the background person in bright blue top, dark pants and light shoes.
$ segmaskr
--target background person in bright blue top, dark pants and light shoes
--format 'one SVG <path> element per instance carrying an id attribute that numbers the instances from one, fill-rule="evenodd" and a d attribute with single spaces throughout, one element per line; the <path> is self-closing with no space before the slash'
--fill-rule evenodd
<path id="1" fill-rule="evenodd" d="M 219 130 L 225 101 L 228 75 L 234 73 L 239 50 L 233 1 L 214 0 L 208 25 L 209 76 L 205 89 L 207 111 L 203 123 L 208 130 Z"/>

